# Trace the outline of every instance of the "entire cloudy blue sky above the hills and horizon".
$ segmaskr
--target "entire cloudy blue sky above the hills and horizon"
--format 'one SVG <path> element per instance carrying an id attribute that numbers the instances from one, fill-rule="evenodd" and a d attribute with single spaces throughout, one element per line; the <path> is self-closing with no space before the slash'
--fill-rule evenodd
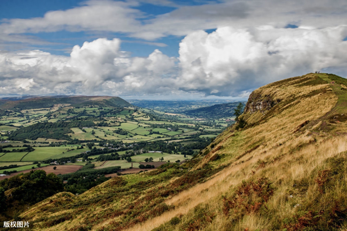
<path id="1" fill-rule="evenodd" d="M 247 99 L 346 63 L 346 0 L 0 0 L 0 97 Z"/>

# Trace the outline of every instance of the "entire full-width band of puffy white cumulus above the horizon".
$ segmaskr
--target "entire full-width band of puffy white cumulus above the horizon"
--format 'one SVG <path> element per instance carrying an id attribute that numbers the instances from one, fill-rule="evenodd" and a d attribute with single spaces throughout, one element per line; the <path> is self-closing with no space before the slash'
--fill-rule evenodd
<path id="1" fill-rule="evenodd" d="M 154 50 L 130 57 L 120 40 L 99 38 L 70 56 L 40 50 L 0 52 L 0 92 L 30 95 L 232 96 L 315 70 L 346 77 L 347 26 L 248 29 L 221 27 L 189 33 L 179 57 Z"/>

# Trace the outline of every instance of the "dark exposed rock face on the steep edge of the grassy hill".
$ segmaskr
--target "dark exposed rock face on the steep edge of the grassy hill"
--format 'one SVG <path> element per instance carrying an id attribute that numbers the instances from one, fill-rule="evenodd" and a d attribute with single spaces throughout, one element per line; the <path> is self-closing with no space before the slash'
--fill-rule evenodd
<path id="1" fill-rule="evenodd" d="M 244 113 L 252 114 L 253 112 L 261 112 L 265 114 L 273 106 L 279 103 L 279 100 L 273 100 L 270 95 L 261 95 L 261 92 L 253 91 L 249 95 Z"/>

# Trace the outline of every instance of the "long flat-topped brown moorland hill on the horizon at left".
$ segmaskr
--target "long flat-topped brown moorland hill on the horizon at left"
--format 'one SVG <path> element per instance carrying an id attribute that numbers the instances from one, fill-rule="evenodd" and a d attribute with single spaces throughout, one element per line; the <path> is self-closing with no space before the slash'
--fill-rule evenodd
<path id="1" fill-rule="evenodd" d="M 1 110 L 25 110 L 34 108 L 48 108 L 57 104 L 68 104 L 74 107 L 81 106 L 112 106 L 127 107 L 132 106 L 122 98 L 115 96 L 32 96 L 25 99 L 16 99 L 17 97 L 8 97 L 0 100 Z"/>

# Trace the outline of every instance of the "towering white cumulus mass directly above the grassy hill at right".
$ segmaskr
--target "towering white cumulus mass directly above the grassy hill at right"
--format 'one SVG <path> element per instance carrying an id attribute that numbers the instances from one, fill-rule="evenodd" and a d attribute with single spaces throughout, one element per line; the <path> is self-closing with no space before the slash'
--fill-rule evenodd
<path id="1" fill-rule="evenodd" d="M 346 26 L 324 29 L 218 28 L 180 43 L 177 86 L 205 95 L 245 96 L 267 83 L 315 70 L 345 69 Z"/>

